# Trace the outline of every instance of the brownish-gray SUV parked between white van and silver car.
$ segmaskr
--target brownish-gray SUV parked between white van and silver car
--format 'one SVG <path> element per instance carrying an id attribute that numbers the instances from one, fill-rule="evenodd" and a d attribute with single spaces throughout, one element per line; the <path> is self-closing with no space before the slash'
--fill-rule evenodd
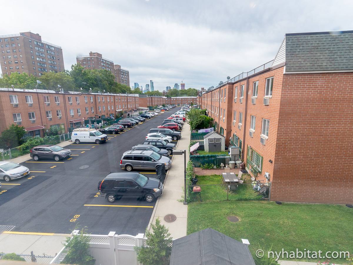
<path id="1" fill-rule="evenodd" d="M 41 158 L 59 161 L 71 155 L 70 149 L 65 149 L 58 145 L 38 145 L 33 147 L 29 152 L 30 157 L 36 161 Z"/>

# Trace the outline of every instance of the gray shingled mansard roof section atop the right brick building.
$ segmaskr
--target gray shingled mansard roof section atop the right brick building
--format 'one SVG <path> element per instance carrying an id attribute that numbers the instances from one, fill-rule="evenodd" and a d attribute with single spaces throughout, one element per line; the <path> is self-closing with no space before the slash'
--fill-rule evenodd
<path id="1" fill-rule="evenodd" d="M 353 70 L 353 31 L 286 34 L 273 65 L 283 61 L 286 72 Z"/>

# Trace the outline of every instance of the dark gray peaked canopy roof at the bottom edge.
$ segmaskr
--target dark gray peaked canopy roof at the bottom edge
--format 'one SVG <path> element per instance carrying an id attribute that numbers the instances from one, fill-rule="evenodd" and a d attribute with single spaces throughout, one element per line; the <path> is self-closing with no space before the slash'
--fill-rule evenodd
<path id="1" fill-rule="evenodd" d="M 173 241 L 169 265 L 255 265 L 249 247 L 207 228 Z"/>

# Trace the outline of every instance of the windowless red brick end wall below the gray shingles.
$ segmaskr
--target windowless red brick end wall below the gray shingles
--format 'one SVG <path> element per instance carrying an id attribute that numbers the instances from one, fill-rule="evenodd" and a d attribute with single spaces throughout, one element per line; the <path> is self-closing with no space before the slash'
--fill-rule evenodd
<path id="1" fill-rule="evenodd" d="M 352 73 L 288 74 L 271 200 L 353 203 Z"/>

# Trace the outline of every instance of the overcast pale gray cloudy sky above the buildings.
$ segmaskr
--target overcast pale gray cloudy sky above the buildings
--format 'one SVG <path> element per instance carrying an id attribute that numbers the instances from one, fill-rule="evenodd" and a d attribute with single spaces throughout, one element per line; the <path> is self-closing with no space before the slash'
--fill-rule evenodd
<path id="1" fill-rule="evenodd" d="M 0 35 L 39 33 L 76 55 L 99 52 L 134 82 L 216 86 L 273 60 L 286 33 L 353 30 L 352 1 L 6 1 Z M 16 10 L 16 12 L 15 12 Z M 4 31 L 5 30 L 5 31 Z"/>

